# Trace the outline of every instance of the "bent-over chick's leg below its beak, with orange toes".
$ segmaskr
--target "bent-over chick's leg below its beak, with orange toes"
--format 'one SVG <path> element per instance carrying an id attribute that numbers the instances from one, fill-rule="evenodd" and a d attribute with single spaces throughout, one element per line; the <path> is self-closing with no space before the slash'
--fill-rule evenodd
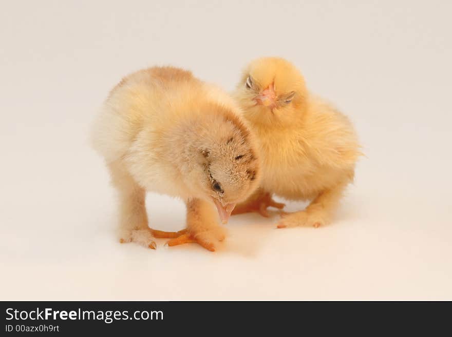
<path id="1" fill-rule="evenodd" d="M 215 251 L 216 244 L 226 237 L 226 231 L 218 225 L 218 214 L 213 205 L 200 199 L 190 199 L 186 205 L 187 228 L 176 234 L 160 232 L 163 235 L 166 233 L 177 236 L 167 242 L 168 246 L 197 243 L 205 249 Z"/>

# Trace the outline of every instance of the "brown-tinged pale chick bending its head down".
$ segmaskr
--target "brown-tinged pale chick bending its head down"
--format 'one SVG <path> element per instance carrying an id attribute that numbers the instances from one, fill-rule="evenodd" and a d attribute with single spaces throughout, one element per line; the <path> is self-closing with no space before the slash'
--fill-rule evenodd
<path id="1" fill-rule="evenodd" d="M 214 251 L 236 203 L 258 184 L 255 141 L 239 108 L 222 90 L 191 72 L 155 67 L 126 76 L 109 94 L 92 133 L 119 193 L 120 242 L 155 249 L 196 242 Z M 148 227 L 145 192 L 180 197 L 187 228 Z M 215 205 L 215 206 L 214 206 Z"/>

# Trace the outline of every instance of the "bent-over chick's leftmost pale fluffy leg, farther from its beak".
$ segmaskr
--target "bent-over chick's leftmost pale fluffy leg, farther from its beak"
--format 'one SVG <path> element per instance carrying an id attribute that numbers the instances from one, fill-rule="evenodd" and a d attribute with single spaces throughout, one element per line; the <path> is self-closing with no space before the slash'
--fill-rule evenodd
<path id="1" fill-rule="evenodd" d="M 121 163 L 109 165 L 112 184 L 119 193 L 119 241 L 135 242 L 155 249 L 152 231 L 147 226 L 145 191 Z"/>

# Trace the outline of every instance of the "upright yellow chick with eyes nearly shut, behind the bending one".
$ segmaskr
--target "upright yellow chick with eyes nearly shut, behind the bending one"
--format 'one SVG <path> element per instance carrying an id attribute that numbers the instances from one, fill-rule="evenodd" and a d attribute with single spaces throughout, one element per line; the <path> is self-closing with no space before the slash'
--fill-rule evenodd
<path id="1" fill-rule="evenodd" d="M 283 58 L 251 62 L 233 96 L 256 135 L 262 171 L 259 189 L 233 214 L 268 216 L 267 207 L 284 207 L 272 200 L 276 194 L 311 200 L 305 210 L 283 214 L 278 228 L 330 222 L 361 154 L 348 118 L 311 94 L 302 74 Z"/>

